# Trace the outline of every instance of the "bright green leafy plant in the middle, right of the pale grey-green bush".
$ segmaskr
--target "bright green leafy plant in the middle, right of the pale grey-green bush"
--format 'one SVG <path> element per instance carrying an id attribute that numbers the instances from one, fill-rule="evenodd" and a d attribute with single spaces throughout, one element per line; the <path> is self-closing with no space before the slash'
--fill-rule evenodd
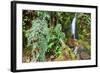
<path id="1" fill-rule="evenodd" d="M 56 56 L 59 56 L 59 54 L 61 53 L 60 39 L 64 40 L 65 38 L 65 34 L 61 30 L 61 24 L 57 24 L 55 28 L 49 28 L 49 41 L 47 53 L 52 52 Z"/>

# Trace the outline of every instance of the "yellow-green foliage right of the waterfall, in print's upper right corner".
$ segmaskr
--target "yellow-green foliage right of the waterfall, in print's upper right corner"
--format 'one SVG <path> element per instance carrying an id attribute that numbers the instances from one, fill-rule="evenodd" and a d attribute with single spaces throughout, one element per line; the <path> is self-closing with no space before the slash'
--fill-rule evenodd
<path id="1" fill-rule="evenodd" d="M 90 14 L 86 13 L 79 13 L 78 14 L 78 34 L 80 39 L 90 41 L 91 36 L 91 16 Z"/>

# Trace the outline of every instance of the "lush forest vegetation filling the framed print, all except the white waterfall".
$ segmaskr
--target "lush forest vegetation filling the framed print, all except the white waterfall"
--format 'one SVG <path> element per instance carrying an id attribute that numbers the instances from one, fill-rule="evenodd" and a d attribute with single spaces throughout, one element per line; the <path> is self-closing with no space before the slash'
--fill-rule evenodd
<path id="1" fill-rule="evenodd" d="M 91 59 L 90 13 L 23 10 L 22 16 L 23 63 Z"/>

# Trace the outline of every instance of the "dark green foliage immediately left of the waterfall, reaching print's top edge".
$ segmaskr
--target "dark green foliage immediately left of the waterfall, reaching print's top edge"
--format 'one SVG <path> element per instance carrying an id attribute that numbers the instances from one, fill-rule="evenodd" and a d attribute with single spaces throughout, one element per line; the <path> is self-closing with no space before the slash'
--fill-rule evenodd
<path id="1" fill-rule="evenodd" d="M 72 12 L 58 12 L 58 23 L 62 24 L 62 31 L 67 38 L 71 36 L 71 23 L 74 15 L 75 13 Z"/>

